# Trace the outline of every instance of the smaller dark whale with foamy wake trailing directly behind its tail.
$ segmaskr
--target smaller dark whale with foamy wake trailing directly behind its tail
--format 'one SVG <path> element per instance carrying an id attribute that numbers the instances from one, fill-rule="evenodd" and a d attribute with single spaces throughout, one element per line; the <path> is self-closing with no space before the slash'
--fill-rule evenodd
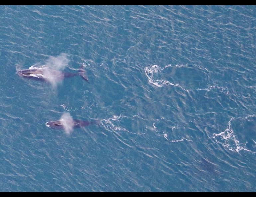
<path id="1" fill-rule="evenodd" d="M 97 123 L 98 123 L 97 121 L 89 122 L 89 121 L 83 121 L 83 120 L 71 120 L 71 122 L 69 122 L 68 124 L 72 128 L 81 128 L 81 127 L 86 127 L 91 124 L 97 124 Z M 66 123 L 64 123 L 62 120 L 50 121 L 45 123 L 47 127 L 50 127 L 52 129 L 65 129 L 65 126 L 67 126 L 65 124 Z"/>

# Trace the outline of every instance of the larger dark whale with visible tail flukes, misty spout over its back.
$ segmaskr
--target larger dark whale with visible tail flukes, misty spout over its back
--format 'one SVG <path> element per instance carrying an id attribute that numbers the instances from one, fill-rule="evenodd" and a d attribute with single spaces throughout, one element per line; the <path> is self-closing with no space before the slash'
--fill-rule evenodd
<path id="1" fill-rule="evenodd" d="M 63 80 L 64 78 L 74 77 L 74 76 L 80 76 L 85 81 L 89 82 L 87 76 L 85 75 L 85 70 L 80 67 L 78 70 L 78 73 L 70 73 L 70 72 L 62 72 L 59 70 L 54 70 L 46 66 L 42 67 L 30 67 L 29 69 L 25 70 L 19 70 L 16 68 L 16 73 L 20 77 L 28 78 L 28 79 L 34 79 L 34 80 L 40 80 L 40 81 L 48 81 L 51 82 L 52 80 Z"/>

